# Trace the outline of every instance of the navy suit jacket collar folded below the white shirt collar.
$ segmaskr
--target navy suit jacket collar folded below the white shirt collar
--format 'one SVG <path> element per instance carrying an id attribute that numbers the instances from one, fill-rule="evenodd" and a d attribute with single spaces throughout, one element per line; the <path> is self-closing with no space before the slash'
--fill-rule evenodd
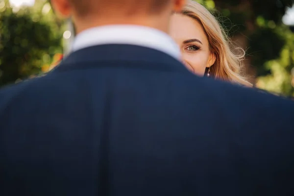
<path id="1" fill-rule="evenodd" d="M 124 67 L 189 73 L 172 56 L 155 49 L 133 45 L 98 45 L 77 50 L 67 56 L 55 71 L 90 67 Z"/>

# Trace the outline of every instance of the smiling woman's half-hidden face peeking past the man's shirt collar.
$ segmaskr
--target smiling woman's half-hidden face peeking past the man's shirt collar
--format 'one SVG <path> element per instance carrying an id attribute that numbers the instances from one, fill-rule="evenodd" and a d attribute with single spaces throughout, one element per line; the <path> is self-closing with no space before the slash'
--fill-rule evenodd
<path id="1" fill-rule="evenodd" d="M 170 35 L 180 47 L 182 60 L 191 72 L 203 75 L 205 68 L 214 64 L 215 55 L 210 52 L 203 28 L 195 19 L 174 14 Z"/>

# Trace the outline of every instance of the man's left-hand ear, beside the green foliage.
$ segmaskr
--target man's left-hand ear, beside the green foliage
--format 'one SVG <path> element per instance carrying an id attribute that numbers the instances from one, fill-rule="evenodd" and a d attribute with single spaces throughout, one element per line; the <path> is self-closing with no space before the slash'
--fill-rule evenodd
<path id="1" fill-rule="evenodd" d="M 51 0 L 51 5 L 58 15 L 69 18 L 72 15 L 72 4 L 69 0 Z"/>

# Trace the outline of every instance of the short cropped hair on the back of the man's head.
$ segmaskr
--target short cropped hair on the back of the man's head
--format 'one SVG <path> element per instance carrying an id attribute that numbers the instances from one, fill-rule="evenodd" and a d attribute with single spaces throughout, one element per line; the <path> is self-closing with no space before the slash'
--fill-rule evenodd
<path id="1" fill-rule="evenodd" d="M 79 15 L 86 15 L 91 11 L 103 13 L 108 7 L 122 10 L 122 13 L 135 14 L 138 10 L 156 14 L 171 0 L 69 0 Z M 125 8 L 125 10 L 124 10 Z M 146 9 L 145 9 L 146 8 Z M 117 11 L 117 10 L 116 10 Z M 107 11 L 109 13 L 109 10 Z"/>

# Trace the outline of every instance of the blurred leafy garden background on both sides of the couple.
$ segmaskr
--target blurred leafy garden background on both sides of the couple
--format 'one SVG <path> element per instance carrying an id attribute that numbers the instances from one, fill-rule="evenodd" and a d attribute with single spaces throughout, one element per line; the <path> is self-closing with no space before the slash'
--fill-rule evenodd
<path id="1" fill-rule="evenodd" d="M 256 87 L 294 97 L 294 0 L 196 1 L 245 49 Z M 49 0 L 0 0 L 0 87 L 51 70 L 67 54 L 73 31 Z"/>

